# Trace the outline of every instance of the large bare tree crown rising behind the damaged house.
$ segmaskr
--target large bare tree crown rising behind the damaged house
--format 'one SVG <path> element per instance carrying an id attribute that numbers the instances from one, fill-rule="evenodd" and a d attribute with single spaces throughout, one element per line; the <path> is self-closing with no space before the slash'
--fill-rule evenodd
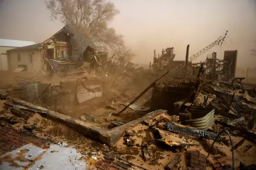
<path id="1" fill-rule="evenodd" d="M 123 36 L 108 24 L 119 13 L 111 1 L 106 0 L 48 0 L 46 7 L 51 18 L 60 20 L 82 33 L 100 50 L 125 47 Z"/>

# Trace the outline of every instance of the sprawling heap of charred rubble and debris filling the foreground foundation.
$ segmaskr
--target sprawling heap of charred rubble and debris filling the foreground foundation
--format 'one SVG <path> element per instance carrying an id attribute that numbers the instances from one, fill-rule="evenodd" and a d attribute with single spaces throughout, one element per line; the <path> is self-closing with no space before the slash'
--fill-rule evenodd
<path id="1" fill-rule="evenodd" d="M 161 81 L 166 72 L 134 95 L 142 88 L 134 81 L 150 73 L 132 63 L 119 70 L 113 76 L 68 75 L 58 84 L 22 83 L 15 90 L 19 98 L 0 93 L 1 126 L 52 139 L 63 133 L 60 125 L 72 128 L 58 139 L 79 149 L 91 168 L 255 168 L 256 100 L 250 85 L 205 81 L 201 65 L 194 81 Z M 73 131 L 82 136 L 70 139 Z M 103 144 L 85 148 L 83 135 Z"/>

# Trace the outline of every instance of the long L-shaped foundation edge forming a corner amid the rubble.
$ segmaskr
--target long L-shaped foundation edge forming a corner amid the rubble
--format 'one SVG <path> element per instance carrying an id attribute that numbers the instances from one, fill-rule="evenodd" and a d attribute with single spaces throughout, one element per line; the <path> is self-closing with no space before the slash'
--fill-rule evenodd
<path id="1" fill-rule="evenodd" d="M 28 111 L 29 110 L 34 112 L 36 111 L 44 116 L 49 117 L 52 120 L 61 122 L 64 125 L 69 126 L 70 128 L 77 131 L 78 133 L 81 133 L 99 142 L 105 143 L 110 147 L 112 147 L 114 143 L 116 143 L 124 135 L 125 131 L 142 123 L 144 120 L 153 119 L 154 117 L 157 117 L 160 114 L 165 114 L 167 112 L 165 110 L 156 110 L 154 112 L 150 112 L 149 114 L 146 114 L 143 117 L 140 117 L 139 119 L 133 120 L 124 125 L 113 128 L 112 130 L 105 130 L 103 128 L 99 128 L 95 126 L 94 123 L 77 120 L 67 115 L 64 115 L 58 112 L 53 112 L 49 109 L 45 109 L 41 106 L 37 106 L 29 102 L 22 101 L 18 98 L 14 98 L 13 102 L 15 104 L 8 104 L 8 105 L 17 106 L 19 107 L 19 109 L 28 109 Z"/>

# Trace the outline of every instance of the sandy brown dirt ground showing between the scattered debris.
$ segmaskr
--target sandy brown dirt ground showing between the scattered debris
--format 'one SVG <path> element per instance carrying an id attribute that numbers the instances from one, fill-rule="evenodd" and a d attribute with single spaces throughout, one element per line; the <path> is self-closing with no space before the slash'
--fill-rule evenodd
<path id="1" fill-rule="evenodd" d="M 27 74 L 27 73 L 18 73 L 14 74 L 11 72 L 0 72 L 0 91 L 3 93 L 8 93 L 8 90 L 14 89 L 18 87 L 18 82 L 21 80 L 24 81 L 39 81 L 44 83 L 52 83 L 58 84 L 63 77 L 44 77 L 41 74 Z M 21 78 L 22 77 L 22 78 Z M 153 79 L 154 80 L 154 79 Z M 75 119 L 80 119 L 82 115 L 89 115 L 95 118 L 94 124 L 108 129 L 108 125 L 111 121 L 119 121 L 123 123 L 130 122 L 132 120 L 138 119 L 143 115 L 149 113 L 133 111 L 131 109 L 127 109 L 120 115 L 113 115 L 112 113 L 116 113 L 120 111 L 124 107 L 125 102 L 130 102 L 135 98 L 147 85 L 150 84 L 152 78 L 150 79 L 141 79 L 140 82 L 134 83 L 126 80 L 125 77 L 119 77 L 116 81 L 116 85 L 113 88 L 109 88 L 112 82 L 108 82 L 108 80 L 104 80 L 104 91 L 102 98 L 93 98 L 89 101 L 86 101 L 79 106 L 74 104 L 66 104 L 64 109 L 62 109 L 63 114 L 66 114 Z M 123 86 L 125 84 L 125 87 Z M 231 91 L 233 93 L 233 91 Z M 136 104 L 145 104 L 150 102 L 152 90 L 149 90 L 140 100 L 136 102 Z M 250 96 L 247 96 L 250 98 Z M 214 98 L 214 96 L 213 96 Z M 253 98 L 250 98 L 253 100 Z M 212 101 L 212 98 L 209 97 L 209 102 Z M 158 146 L 156 143 L 151 143 L 148 146 L 149 152 L 151 153 L 151 160 L 156 160 L 157 163 L 154 162 L 152 165 L 151 161 L 144 162 L 141 151 L 141 144 L 144 142 L 149 142 L 154 138 L 152 130 L 147 125 L 139 124 L 129 130 L 129 132 L 134 132 L 135 135 L 132 137 L 135 141 L 135 146 L 127 147 L 125 145 L 125 137 L 122 137 L 116 142 L 113 148 L 109 148 L 104 144 L 98 143 L 96 141 L 92 141 L 91 139 L 85 138 L 80 133 L 72 130 L 71 128 L 63 125 L 59 122 L 55 122 L 53 120 L 48 119 L 47 117 L 41 116 L 39 113 L 33 114 L 28 120 L 25 120 L 21 117 L 17 117 L 17 115 L 10 112 L 10 110 L 5 106 L 5 101 L 0 101 L 0 120 L 1 125 L 11 125 L 15 129 L 23 129 L 24 127 L 32 127 L 36 126 L 36 132 L 42 133 L 49 138 L 52 138 L 54 141 L 62 141 L 69 144 L 69 146 L 73 146 L 78 149 L 82 154 L 90 155 L 91 152 L 98 152 L 100 154 L 97 155 L 98 159 L 103 158 L 103 153 L 111 152 L 116 155 L 125 157 L 127 160 L 132 161 L 136 165 L 141 165 L 146 169 L 163 169 L 171 160 L 175 159 L 177 154 L 180 151 L 169 151 L 163 149 Z M 202 103 L 203 98 L 198 98 L 197 103 Z M 164 115 L 168 120 L 176 120 L 175 116 Z M 216 119 L 218 116 L 215 116 Z M 159 117 L 156 117 L 157 119 Z M 182 125 L 181 125 L 182 126 Z M 212 127 L 213 131 L 219 131 L 220 128 Z M 168 139 L 171 141 L 176 141 L 180 143 L 195 143 L 199 145 L 191 145 L 186 146 L 184 150 L 182 150 L 182 161 L 180 165 L 185 169 L 187 168 L 187 162 L 185 161 L 185 155 L 187 151 L 199 150 L 202 154 L 207 155 L 208 150 L 202 145 L 203 139 L 196 138 L 193 136 L 175 134 L 171 132 L 167 132 L 159 129 L 162 138 Z M 256 127 L 252 130 L 253 133 L 256 133 Z M 224 135 L 224 137 L 228 138 L 228 136 Z M 234 145 L 242 140 L 242 137 L 232 136 L 232 140 Z M 252 148 L 247 152 L 244 151 L 246 146 L 252 145 Z M 228 164 L 232 164 L 232 155 L 231 155 L 231 146 L 227 146 L 222 142 L 216 142 L 215 146 L 223 149 L 226 153 L 226 160 Z M 245 142 L 238 149 L 235 150 L 235 165 L 239 166 L 240 161 L 245 161 L 246 165 L 250 165 L 256 162 L 254 155 L 256 154 L 256 143 L 245 140 Z M 90 156 L 86 157 L 86 161 L 89 167 L 94 168 L 94 162 L 96 160 L 92 159 Z M 212 169 L 212 167 L 207 167 L 207 169 Z"/>

